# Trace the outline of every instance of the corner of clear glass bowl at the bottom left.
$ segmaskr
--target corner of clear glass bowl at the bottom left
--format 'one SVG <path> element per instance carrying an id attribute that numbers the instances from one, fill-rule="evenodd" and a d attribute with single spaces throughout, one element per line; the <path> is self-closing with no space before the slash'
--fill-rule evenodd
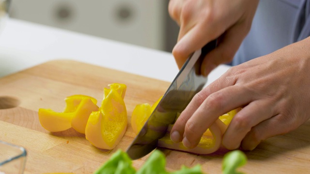
<path id="1" fill-rule="evenodd" d="M 0 141 L 0 174 L 23 174 L 26 156 L 25 148 Z"/>

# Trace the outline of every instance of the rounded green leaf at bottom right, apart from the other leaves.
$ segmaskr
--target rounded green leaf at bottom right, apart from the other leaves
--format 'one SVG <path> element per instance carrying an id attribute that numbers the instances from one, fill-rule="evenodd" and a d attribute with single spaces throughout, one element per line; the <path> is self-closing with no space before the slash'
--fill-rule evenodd
<path id="1" fill-rule="evenodd" d="M 234 150 L 224 155 L 222 162 L 223 174 L 243 174 L 236 171 L 247 163 L 247 156 L 241 150 Z"/>

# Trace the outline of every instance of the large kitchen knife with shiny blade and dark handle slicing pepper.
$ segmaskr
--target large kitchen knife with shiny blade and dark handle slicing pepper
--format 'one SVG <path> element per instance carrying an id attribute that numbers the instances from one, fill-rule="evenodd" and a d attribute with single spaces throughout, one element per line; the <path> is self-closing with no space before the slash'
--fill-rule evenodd
<path id="1" fill-rule="evenodd" d="M 200 73 L 201 63 L 204 56 L 216 45 L 217 40 L 211 41 L 187 58 L 157 107 L 126 150 L 132 160 L 152 152 L 157 147 L 158 139 L 166 134 L 168 126 L 174 124 L 177 113 L 181 113 L 194 95 L 202 90 L 207 77 Z"/>

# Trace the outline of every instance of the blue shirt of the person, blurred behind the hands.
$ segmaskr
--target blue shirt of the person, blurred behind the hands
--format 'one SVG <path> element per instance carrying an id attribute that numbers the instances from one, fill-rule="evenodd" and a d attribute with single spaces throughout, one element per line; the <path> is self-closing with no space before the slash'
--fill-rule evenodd
<path id="1" fill-rule="evenodd" d="M 308 36 L 310 0 L 260 0 L 251 29 L 231 65 L 272 53 Z"/>

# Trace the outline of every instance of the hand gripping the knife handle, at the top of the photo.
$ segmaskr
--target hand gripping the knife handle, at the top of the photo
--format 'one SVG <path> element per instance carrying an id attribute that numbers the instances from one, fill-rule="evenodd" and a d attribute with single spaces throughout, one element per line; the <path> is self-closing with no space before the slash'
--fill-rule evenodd
<path id="1" fill-rule="evenodd" d="M 203 60 L 201 73 L 230 62 L 248 34 L 258 0 L 170 0 L 169 13 L 179 24 L 172 54 L 182 67 L 188 56 L 218 38 L 218 46 Z"/>

